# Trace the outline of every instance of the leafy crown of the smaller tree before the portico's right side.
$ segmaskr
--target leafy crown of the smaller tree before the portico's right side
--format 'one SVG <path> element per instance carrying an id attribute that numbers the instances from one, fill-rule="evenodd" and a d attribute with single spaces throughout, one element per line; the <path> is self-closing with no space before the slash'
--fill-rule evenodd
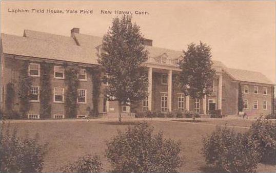
<path id="1" fill-rule="evenodd" d="M 199 45 L 191 43 L 184 58 L 180 61 L 182 69 L 179 82 L 185 95 L 192 98 L 204 98 L 212 93 L 215 71 L 212 69 L 211 48 L 200 41 Z"/>

